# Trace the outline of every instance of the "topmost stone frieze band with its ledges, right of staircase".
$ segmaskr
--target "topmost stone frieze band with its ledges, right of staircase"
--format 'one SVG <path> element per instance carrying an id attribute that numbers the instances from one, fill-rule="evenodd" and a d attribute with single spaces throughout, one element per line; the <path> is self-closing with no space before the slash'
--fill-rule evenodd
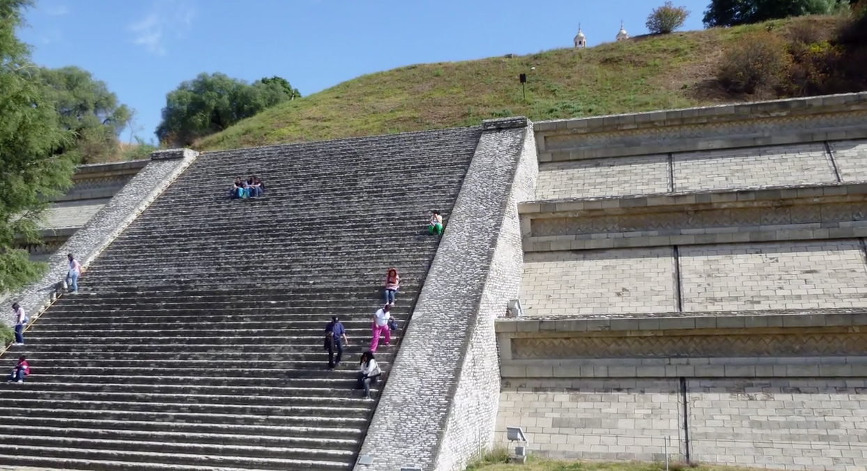
<path id="1" fill-rule="evenodd" d="M 540 162 L 867 138 L 867 92 L 535 125 Z"/>

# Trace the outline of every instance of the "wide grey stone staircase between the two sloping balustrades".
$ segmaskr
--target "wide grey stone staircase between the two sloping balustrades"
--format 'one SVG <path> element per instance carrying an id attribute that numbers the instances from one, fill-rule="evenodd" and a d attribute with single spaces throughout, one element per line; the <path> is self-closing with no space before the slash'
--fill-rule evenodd
<path id="1" fill-rule="evenodd" d="M 0 465 L 352 468 L 376 404 L 355 390 L 355 371 L 385 272 L 401 271 L 402 330 L 438 245 L 430 210 L 447 219 L 480 133 L 199 156 L 95 260 L 81 291 L 0 358 L 32 366 L 25 383 L 0 384 Z M 265 197 L 225 200 L 250 173 Z M 329 371 L 332 315 L 350 344 Z M 401 330 L 377 351 L 386 378 Z"/>

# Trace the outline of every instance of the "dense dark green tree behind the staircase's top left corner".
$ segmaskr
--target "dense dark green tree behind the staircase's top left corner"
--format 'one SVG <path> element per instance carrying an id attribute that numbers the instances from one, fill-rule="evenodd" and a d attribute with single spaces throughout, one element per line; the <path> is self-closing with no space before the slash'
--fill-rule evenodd
<path id="1" fill-rule="evenodd" d="M 225 74 L 199 74 L 166 95 L 156 134 L 160 142 L 188 146 L 244 118 L 301 96 L 282 77 L 247 83 Z"/>

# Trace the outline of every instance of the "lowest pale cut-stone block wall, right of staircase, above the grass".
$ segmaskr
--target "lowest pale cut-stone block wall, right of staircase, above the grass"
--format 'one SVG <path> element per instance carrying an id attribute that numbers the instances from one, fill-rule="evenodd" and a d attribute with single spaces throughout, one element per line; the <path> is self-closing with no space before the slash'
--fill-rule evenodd
<path id="1" fill-rule="evenodd" d="M 685 381 L 693 461 L 779 469 L 867 467 L 863 378 Z M 497 439 L 522 427 L 531 453 L 557 458 L 662 461 L 685 452 L 677 380 L 559 379 L 504 383 Z"/>

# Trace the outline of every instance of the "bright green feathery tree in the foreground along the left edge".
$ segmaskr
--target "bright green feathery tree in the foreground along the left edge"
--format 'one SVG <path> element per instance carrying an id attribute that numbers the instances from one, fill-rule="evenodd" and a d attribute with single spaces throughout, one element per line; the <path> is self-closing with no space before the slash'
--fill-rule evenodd
<path id="1" fill-rule="evenodd" d="M 30 0 L 0 0 L 0 292 L 35 280 L 43 265 L 16 249 L 16 238 L 37 242 L 38 220 L 47 197 L 65 190 L 75 172 L 75 156 L 64 154 L 72 133 L 33 75 L 29 49 L 15 35 Z"/>

